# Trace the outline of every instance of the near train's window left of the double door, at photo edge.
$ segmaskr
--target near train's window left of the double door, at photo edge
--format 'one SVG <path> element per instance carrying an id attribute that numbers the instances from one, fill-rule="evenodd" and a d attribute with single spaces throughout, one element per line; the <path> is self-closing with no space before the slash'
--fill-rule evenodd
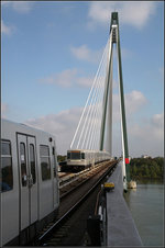
<path id="1" fill-rule="evenodd" d="M 11 143 L 1 140 L 1 190 L 2 192 L 13 189 Z"/>

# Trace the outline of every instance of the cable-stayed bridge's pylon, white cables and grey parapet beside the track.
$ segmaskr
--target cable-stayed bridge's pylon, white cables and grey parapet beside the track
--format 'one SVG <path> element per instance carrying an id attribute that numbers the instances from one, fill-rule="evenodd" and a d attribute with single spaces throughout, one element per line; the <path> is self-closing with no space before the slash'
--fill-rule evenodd
<path id="1" fill-rule="evenodd" d="M 116 50 L 114 50 L 116 48 Z M 98 215 L 88 219 L 92 245 L 142 246 L 141 237 L 123 199 L 123 190 L 135 188 L 130 179 L 130 161 L 122 78 L 118 12 L 111 13 L 110 33 L 87 102 L 70 144 L 70 149 L 107 150 L 112 157 L 113 57 L 117 52 L 122 136 L 122 158 L 103 184 Z M 112 193 L 107 185 L 114 187 Z M 102 235 L 99 235 L 99 234 Z"/>

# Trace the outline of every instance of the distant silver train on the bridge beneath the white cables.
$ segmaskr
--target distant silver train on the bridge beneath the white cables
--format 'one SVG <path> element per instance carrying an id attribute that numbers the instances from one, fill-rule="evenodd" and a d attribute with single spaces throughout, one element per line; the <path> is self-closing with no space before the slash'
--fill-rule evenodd
<path id="1" fill-rule="evenodd" d="M 109 153 L 102 150 L 74 149 L 67 151 L 66 166 L 64 171 L 81 171 L 98 162 L 111 160 Z"/>

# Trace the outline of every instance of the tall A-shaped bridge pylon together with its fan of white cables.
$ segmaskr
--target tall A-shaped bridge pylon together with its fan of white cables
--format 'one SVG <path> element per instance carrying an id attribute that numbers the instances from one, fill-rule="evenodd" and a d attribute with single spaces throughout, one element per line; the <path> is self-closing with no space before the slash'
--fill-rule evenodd
<path id="1" fill-rule="evenodd" d="M 112 156 L 112 72 L 114 44 L 117 44 L 118 59 L 123 168 L 127 171 L 124 172 L 127 180 L 130 181 L 118 12 L 112 12 L 111 14 L 110 35 L 70 144 L 70 149 L 105 149 Z"/>

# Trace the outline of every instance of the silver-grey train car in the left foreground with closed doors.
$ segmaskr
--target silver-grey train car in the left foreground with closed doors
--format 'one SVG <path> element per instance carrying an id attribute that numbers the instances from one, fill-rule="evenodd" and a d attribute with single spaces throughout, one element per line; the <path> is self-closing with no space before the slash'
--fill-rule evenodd
<path id="1" fill-rule="evenodd" d="M 24 245 L 59 206 L 55 137 L 1 121 L 0 245 Z"/>

